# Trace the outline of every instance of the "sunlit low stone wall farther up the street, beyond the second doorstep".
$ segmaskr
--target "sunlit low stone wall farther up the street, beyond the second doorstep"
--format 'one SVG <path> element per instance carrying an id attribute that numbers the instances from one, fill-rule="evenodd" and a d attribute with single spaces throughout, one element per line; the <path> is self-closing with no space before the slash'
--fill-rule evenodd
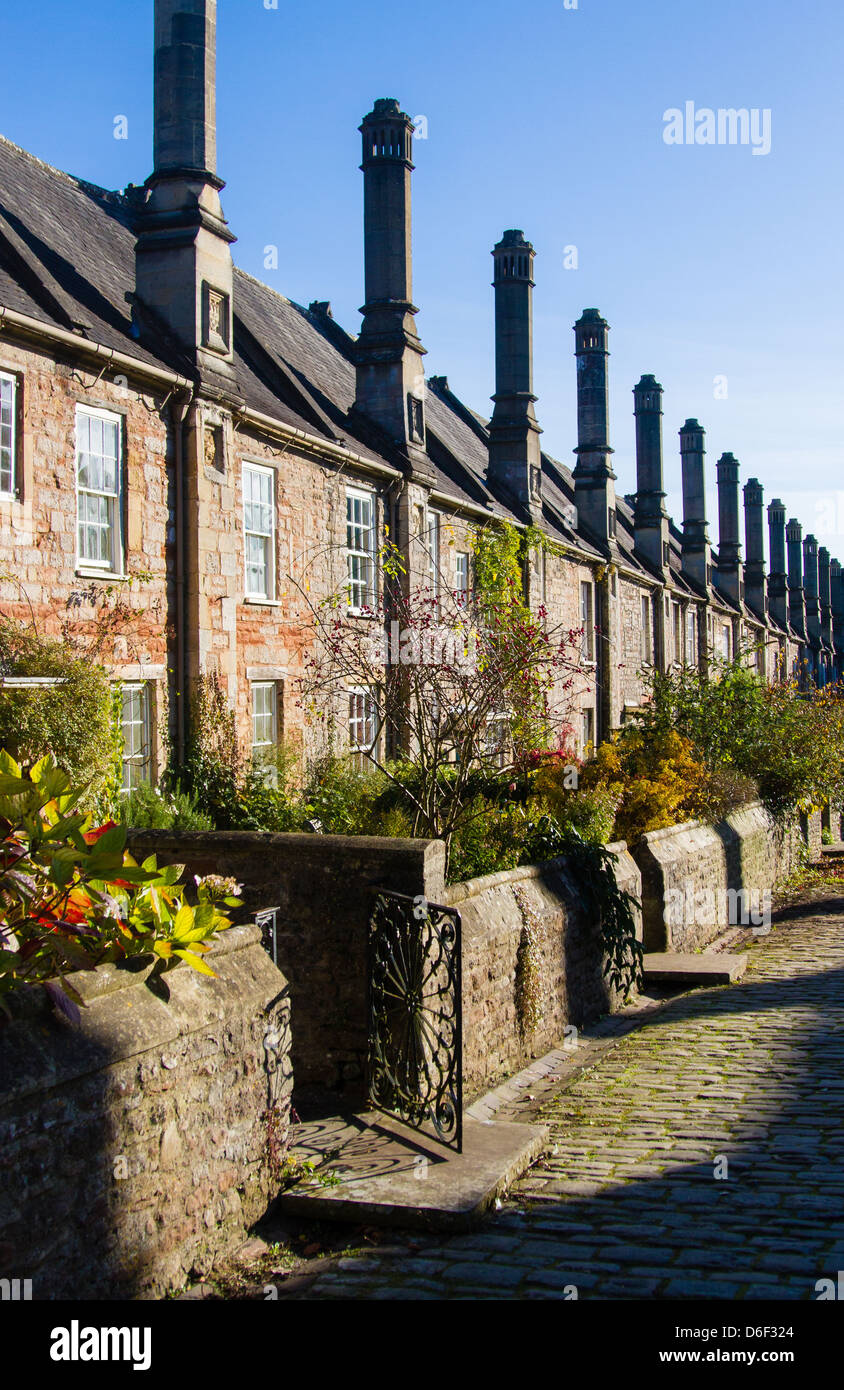
<path id="1" fill-rule="evenodd" d="M 631 852 L 642 877 L 645 951 L 699 949 L 740 924 L 742 909 L 756 915 L 745 924 L 763 924 L 765 895 L 797 867 L 806 834 L 819 855 L 819 813 L 802 834 L 783 834 L 756 802 L 716 826 L 690 820 L 642 835 Z"/>

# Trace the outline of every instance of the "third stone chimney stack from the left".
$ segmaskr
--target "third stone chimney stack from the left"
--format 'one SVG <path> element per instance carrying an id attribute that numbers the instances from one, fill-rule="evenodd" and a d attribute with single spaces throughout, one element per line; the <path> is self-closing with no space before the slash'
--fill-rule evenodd
<path id="1" fill-rule="evenodd" d="M 539 425 L 534 414 L 534 249 L 519 231 L 492 250 L 495 288 L 495 410 L 489 421 L 489 481 L 526 520 L 542 517 Z"/>

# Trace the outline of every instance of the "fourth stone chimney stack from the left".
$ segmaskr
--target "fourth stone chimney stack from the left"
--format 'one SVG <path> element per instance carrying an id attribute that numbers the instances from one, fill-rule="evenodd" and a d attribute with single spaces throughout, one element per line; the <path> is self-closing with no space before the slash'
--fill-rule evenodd
<path id="1" fill-rule="evenodd" d="M 574 505 L 578 521 L 603 546 L 616 534 L 616 475 L 609 446 L 606 359 L 609 324 L 597 309 L 584 309 L 574 324 L 577 357 L 577 463 Z"/>

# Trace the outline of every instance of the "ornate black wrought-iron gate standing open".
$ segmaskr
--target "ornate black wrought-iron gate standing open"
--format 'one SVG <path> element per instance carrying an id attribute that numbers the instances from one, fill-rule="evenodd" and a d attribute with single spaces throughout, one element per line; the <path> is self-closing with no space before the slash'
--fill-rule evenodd
<path id="1" fill-rule="evenodd" d="M 380 891 L 368 938 L 368 1094 L 463 1151 L 460 913 Z"/>

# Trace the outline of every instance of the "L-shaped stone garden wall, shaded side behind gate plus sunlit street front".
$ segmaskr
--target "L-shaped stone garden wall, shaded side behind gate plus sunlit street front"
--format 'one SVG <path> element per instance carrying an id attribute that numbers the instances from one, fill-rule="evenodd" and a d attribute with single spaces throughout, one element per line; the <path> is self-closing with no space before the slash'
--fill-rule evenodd
<path id="1" fill-rule="evenodd" d="M 464 1087 L 477 1094 L 530 1056 L 559 1044 L 566 1023 L 613 1006 L 598 931 L 565 860 L 444 885 L 441 841 L 252 831 L 132 831 L 136 856 L 232 874 L 246 909 L 278 912 L 278 966 L 289 981 L 296 1104 L 338 1091 L 363 1099 L 367 1054 L 367 923 L 377 888 L 457 908 L 463 916 Z M 619 878 L 640 897 L 623 845 Z M 519 899 L 535 912 L 542 1023 L 524 1036 L 516 1011 L 523 935 Z M 321 1098 L 325 1098 L 324 1095 Z"/>

